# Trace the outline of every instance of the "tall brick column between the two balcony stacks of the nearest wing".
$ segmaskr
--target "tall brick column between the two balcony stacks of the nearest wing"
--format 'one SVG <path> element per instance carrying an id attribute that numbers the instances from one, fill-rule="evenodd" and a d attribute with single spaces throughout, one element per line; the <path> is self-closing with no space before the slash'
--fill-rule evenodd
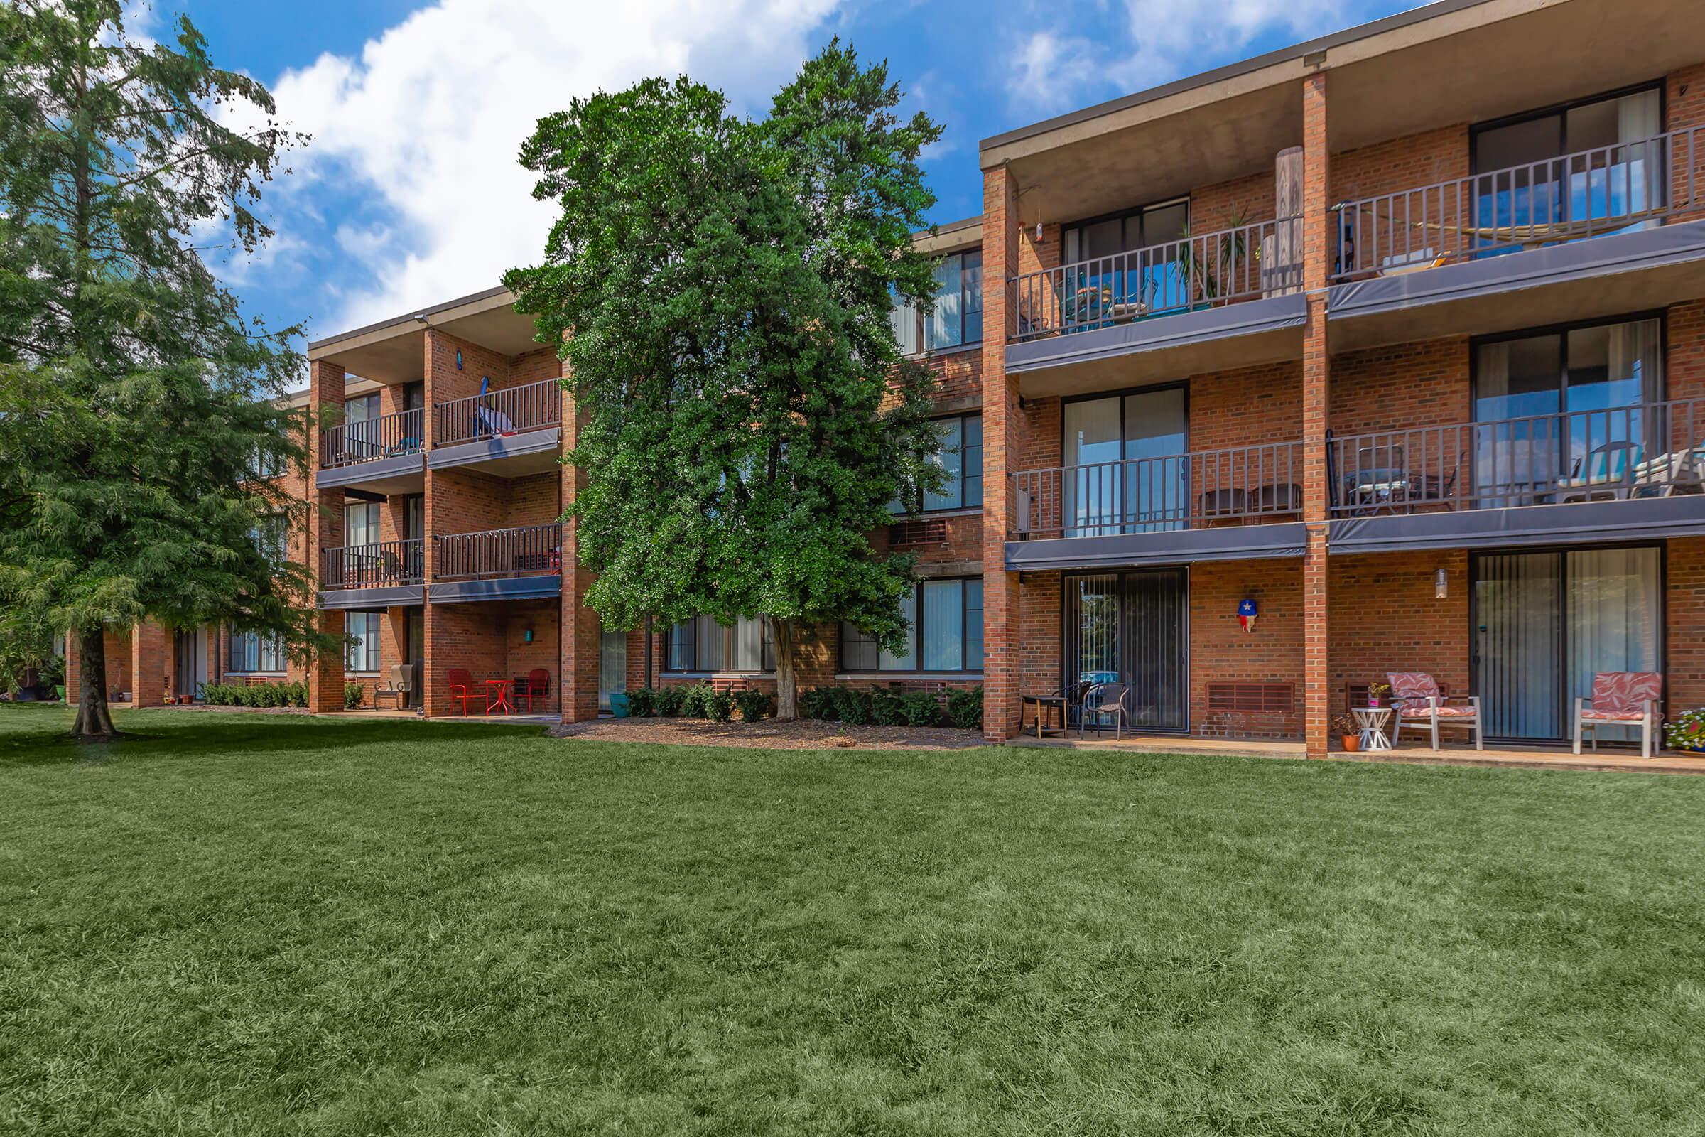
<path id="1" fill-rule="evenodd" d="M 1303 288 L 1308 327 L 1303 334 L 1303 738 L 1308 757 L 1326 757 L 1330 736 L 1330 661 L 1326 620 L 1326 426 L 1330 356 L 1326 353 L 1326 257 L 1330 256 L 1326 188 L 1326 73 L 1303 78 Z"/>

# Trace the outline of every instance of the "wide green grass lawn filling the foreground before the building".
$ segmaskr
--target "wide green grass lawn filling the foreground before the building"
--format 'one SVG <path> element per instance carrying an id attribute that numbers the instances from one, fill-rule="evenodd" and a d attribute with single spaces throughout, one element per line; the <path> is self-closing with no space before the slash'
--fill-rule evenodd
<path id="1" fill-rule="evenodd" d="M 1698 1134 L 1705 779 L 0 709 L 0 1132 Z"/>

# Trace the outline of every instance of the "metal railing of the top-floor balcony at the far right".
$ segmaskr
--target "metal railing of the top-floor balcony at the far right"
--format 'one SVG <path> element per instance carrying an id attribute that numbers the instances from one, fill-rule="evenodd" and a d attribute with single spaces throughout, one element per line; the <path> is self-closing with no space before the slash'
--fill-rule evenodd
<path id="1" fill-rule="evenodd" d="M 1656 225 L 1698 203 L 1705 126 L 1344 201 L 1333 280 L 1432 268 Z"/>

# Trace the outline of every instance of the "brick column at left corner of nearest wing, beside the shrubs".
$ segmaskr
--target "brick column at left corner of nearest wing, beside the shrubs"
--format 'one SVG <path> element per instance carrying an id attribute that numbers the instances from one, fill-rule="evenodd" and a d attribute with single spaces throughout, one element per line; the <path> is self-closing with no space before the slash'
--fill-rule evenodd
<path id="1" fill-rule="evenodd" d="M 1018 733 L 1018 573 L 1006 571 L 1013 515 L 1008 470 L 1020 453 L 1018 382 L 1006 375 L 1013 324 L 1008 278 L 1018 266 L 1018 186 L 1006 167 L 982 177 L 982 735 Z"/>

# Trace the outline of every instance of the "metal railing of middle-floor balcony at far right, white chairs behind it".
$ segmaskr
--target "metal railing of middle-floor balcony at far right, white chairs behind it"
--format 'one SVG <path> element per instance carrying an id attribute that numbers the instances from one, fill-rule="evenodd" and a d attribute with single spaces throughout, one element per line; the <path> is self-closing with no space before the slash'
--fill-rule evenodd
<path id="1" fill-rule="evenodd" d="M 1705 399 L 1333 438 L 1337 517 L 1700 493 Z"/>

